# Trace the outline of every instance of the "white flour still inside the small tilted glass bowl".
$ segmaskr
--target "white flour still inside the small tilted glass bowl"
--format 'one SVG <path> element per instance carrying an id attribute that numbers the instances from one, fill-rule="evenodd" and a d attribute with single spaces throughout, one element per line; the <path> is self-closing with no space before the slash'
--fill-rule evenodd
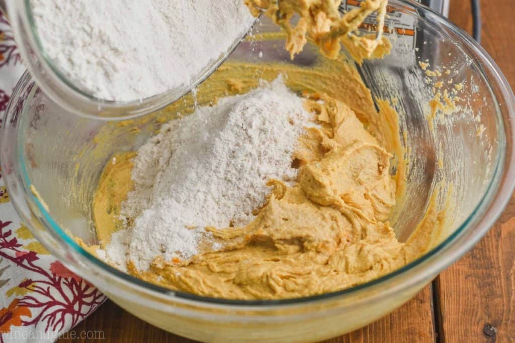
<path id="1" fill-rule="evenodd" d="M 100 99 L 191 84 L 253 18 L 242 0 L 30 0 L 50 59 Z"/>

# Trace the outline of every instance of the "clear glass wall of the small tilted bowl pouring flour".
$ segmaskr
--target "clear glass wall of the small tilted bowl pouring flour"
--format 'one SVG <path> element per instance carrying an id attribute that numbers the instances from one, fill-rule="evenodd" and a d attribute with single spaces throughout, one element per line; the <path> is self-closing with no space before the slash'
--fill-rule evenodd
<path id="1" fill-rule="evenodd" d="M 247 34 L 242 34 L 227 53 L 192 77 L 192 80 L 196 80 L 192 84 L 181 85 L 141 100 L 112 101 L 96 98 L 86 89 L 77 86 L 49 58 L 39 38 L 30 0 L 6 0 L 6 6 L 23 61 L 38 86 L 63 109 L 89 118 L 129 119 L 162 109 L 209 77 Z"/>

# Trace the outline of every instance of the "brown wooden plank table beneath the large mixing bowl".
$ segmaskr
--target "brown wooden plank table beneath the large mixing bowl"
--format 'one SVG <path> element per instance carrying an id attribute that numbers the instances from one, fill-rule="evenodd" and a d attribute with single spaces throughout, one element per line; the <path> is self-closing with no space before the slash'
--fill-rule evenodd
<path id="1" fill-rule="evenodd" d="M 482 0 L 481 7 L 482 45 L 515 89 L 515 0 Z M 469 0 L 451 0 L 449 16 L 471 32 Z M 110 301 L 74 329 L 77 334 L 83 330 L 102 330 L 108 342 L 190 341 L 152 327 Z M 328 342 L 435 341 L 515 341 L 515 197 L 487 236 L 417 297 L 383 319 Z"/>

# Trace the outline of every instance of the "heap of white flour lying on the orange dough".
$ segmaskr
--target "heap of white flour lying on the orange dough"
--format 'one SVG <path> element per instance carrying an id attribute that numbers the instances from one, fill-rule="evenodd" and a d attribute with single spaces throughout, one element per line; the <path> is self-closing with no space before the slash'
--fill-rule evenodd
<path id="1" fill-rule="evenodd" d="M 270 192 L 267 180 L 297 175 L 291 154 L 312 117 L 302 104 L 279 78 L 164 124 L 133 159 L 122 215 L 134 224 L 113 235 L 107 258 L 145 270 L 160 255 L 197 254 L 200 240 L 209 242 L 206 226 L 248 224 Z"/>

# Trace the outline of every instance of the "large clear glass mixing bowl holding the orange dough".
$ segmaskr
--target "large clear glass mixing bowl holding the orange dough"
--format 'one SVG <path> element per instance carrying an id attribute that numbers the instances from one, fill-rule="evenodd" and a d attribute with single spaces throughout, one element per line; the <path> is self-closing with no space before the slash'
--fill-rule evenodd
<path id="1" fill-rule="evenodd" d="M 515 180 L 515 99 L 499 68 L 440 15 L 411 1 L 391 0 L 390 6 L 390 17 L 399 19 L 392 25 L 404 25 L 392 28 L 397 34 L 390 34 L 391 55 L 358 69 L 374 98 L 394 99 L 400 116 L 409 168 L 406 195 L 391 218 L 399 239 L 406 240 L 415 230 L 439 185 L 452 185 L 454 194 L 453 206 L 447 208 L 445 198 L 438 199 L 438 209 L 447 210 L 447 221 L 418 260 L 347 290 L 278 301 L 200 297 L 119 272 L 90 255 L 67 232 L 96 242 L 91 201 L 106 161 L 114 152 L 138 148 L 159 128 L 162 115 L 174 113 L 165 109 L 132 123 L 82 118 L 50 100 L 29 74 L 15 89 L 1 137 L 2 171 L 16 209 L 41 243 L 77 274 L 127 311 L 182 336 L 203 341 L 320 340 L 384 316 L 485 234 L 507 203 Z M 231 61 L 311 68 L 323 59 L 317 49 L 307 47 L 290 61 L 284 41 L 268 34 L 277 31 L 275 26 L 262 19 L 254 30 L 254 42 L 242 42 Z M 452 82 L 463 87 L 461 107 L 437 116 L 433 130 L 428 117 L 435 85 L 426 83 L 419 60 L 451 68 Z M 101 144 L 99 133 L 104 134 Z M 32 194 L 31 185 L 49 211 Z"/>

